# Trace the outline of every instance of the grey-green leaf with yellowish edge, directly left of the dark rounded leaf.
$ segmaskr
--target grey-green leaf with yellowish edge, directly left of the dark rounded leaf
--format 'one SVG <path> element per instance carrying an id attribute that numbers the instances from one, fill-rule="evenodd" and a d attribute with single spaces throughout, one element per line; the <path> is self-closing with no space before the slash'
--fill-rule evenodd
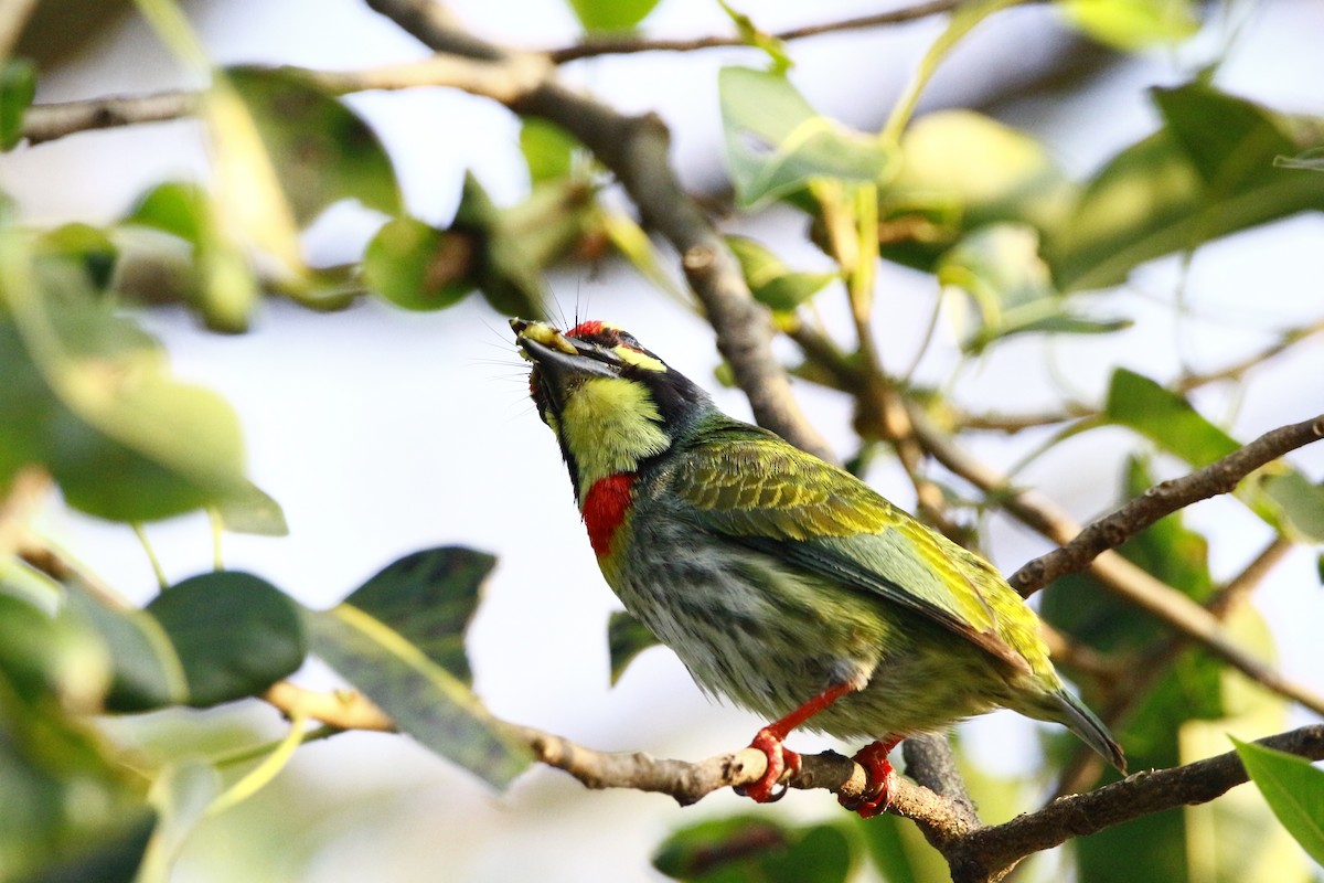
<path id="1" fill-rule="evenodd" d="M 118 610 L 78 582 L 66 585 L 62 617 L 85 624 L 106 645 L 114 678 L 107 711 L 151 711 L 188 700 L 188 679 L 160 624 L 142 610 Z"/>

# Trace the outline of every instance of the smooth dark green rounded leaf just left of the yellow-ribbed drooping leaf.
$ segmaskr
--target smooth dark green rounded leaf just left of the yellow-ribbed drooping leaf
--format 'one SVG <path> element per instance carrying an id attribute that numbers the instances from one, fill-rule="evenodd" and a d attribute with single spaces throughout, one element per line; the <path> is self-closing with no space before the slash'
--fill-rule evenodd
<path id="1" fill-rule="evenodd" d="M 220 571 L 162 592 L 146 612 L 184 667 L 188 704 L 205 708 L 262 694 L 303 665 L 298 608 L 252 573 Z"/>

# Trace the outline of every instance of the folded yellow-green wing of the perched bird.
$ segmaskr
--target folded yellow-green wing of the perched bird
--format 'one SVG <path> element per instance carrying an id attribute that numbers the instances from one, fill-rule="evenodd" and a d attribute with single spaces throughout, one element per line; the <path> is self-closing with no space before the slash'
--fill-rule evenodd
<path id="1" fill-rule="evenodd" d="M 849 473 L 749 428 L 690 449 L 669 483 L 702 527 L 879 594 L 1030 670 L 998 633 L 989 596 L 1012 589 L 997 571 Z"/>

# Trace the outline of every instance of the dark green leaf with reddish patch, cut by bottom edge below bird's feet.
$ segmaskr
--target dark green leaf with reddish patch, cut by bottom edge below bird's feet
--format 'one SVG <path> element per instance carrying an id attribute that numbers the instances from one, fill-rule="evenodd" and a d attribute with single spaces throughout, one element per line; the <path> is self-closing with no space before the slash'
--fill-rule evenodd
<path id="1" fill-rule="evenodd" d="M 789 827 L 736 815 L 675 831 L 653 867 L 692 883 L 843 883 L 851 860 L 851 842 L 835 826 Z"/>

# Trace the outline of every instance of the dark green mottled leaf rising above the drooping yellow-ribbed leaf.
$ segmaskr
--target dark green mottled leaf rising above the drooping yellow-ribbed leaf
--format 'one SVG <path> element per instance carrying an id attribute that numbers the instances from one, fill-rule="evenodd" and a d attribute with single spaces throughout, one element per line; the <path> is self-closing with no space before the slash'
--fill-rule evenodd
<path id="1" fill-rule="evenodd" d="M 414 552 L 388 564 L 346 598 L 421 650 L 466 686 L 473 683 L 465 633 L 496 559 L 458 545 Z"/>

